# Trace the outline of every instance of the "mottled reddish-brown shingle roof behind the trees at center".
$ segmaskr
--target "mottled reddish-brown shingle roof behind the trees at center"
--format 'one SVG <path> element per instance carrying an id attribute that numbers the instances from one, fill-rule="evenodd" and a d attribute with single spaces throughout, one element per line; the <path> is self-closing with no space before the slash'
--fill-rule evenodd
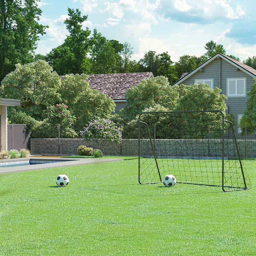
<path id="1" fill-rule="evenodd" d="M 87 81 L 92 89 L 103 92 L 113 100 L 125 100 L 129 88 L 141 82 L 142 79 L 154 77 L 152 72 L 117 73 L 88 75 Z"/>

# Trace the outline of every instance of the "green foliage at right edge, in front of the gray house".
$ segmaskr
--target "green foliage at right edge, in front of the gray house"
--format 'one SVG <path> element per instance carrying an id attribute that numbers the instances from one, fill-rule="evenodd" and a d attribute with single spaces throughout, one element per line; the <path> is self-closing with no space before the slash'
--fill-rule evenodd
<path id="1" fill-rule="evenodd" d="M 244 115 L 240 119 L 239 127 L 242 130 L 241 135 L 245 134 L 245 126 L 247 135 L 253 134 L 256 131 L 256 79 L 251 85 L 251 90 L 247 93 L 249 99 L 246 102 Z"/>

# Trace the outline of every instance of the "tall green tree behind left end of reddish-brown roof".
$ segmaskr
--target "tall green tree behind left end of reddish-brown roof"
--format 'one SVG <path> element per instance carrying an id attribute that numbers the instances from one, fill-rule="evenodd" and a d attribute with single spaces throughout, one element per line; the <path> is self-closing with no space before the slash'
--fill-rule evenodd
<path id="1" fill-rule="evenodd" d="M 116 57 L 115 49 L 112 43 L 97 32 L 93 30 L 91 37 L 91 60 L 93 74 L 108 74 L 115 73 Z"/>

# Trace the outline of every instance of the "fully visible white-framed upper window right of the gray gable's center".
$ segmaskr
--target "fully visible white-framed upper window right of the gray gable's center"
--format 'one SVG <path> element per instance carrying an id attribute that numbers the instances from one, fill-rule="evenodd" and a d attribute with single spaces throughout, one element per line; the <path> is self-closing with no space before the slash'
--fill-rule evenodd
<path id="1" fill-rule="evenodd" d="M 227 78 L 227 96 L 246 96 L 246 78 Z"/>

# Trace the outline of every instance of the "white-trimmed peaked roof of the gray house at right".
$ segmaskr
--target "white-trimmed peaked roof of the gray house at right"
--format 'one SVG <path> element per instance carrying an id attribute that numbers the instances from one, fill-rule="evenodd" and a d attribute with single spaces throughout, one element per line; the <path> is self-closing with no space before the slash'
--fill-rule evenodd
<path id="1" fill-rule="evenodd" d="M 253 78 L 256 78 L 256 70 L 254 68 L 251 68 L 247 65 L 245 65 L 242 62 L 239 62 L 237 60 L 234 60 L 222 53 L 216 53 L 215 55 L 213 55 L 210 59 L 204 61 L 204 63 L 202 63 L 201 65 L 199 65 L 198 67 L 196 67 L 195 69 L 193 69 L 192 71 L 188 72 L 186 75 L 184 75 L 185 73 L 182 74 L 182 76 L 180 77 L 180 79 L 175 82 L 173 85 L 176 84 L 180 84 L 182 83 L 185 79 L 187 79 L 189 76 L 193 75 L 194 73 L 196 73 L 196 71 L 198 71 L 200 68 L 203 68 L 205 65 L 207 65 L 209 62 L 211 62 L 212 60 L 216 59 L 217 57 L 220 57 L 226 61 L 228 61 L 230 64 L 234 65 L 236 68 L 241 69 L 242 71 L 244 71 L 245 73 L 247 73 L 248 75 L 252 76 Z M 184 75 L 184 76 L 183 76 Z"/>

